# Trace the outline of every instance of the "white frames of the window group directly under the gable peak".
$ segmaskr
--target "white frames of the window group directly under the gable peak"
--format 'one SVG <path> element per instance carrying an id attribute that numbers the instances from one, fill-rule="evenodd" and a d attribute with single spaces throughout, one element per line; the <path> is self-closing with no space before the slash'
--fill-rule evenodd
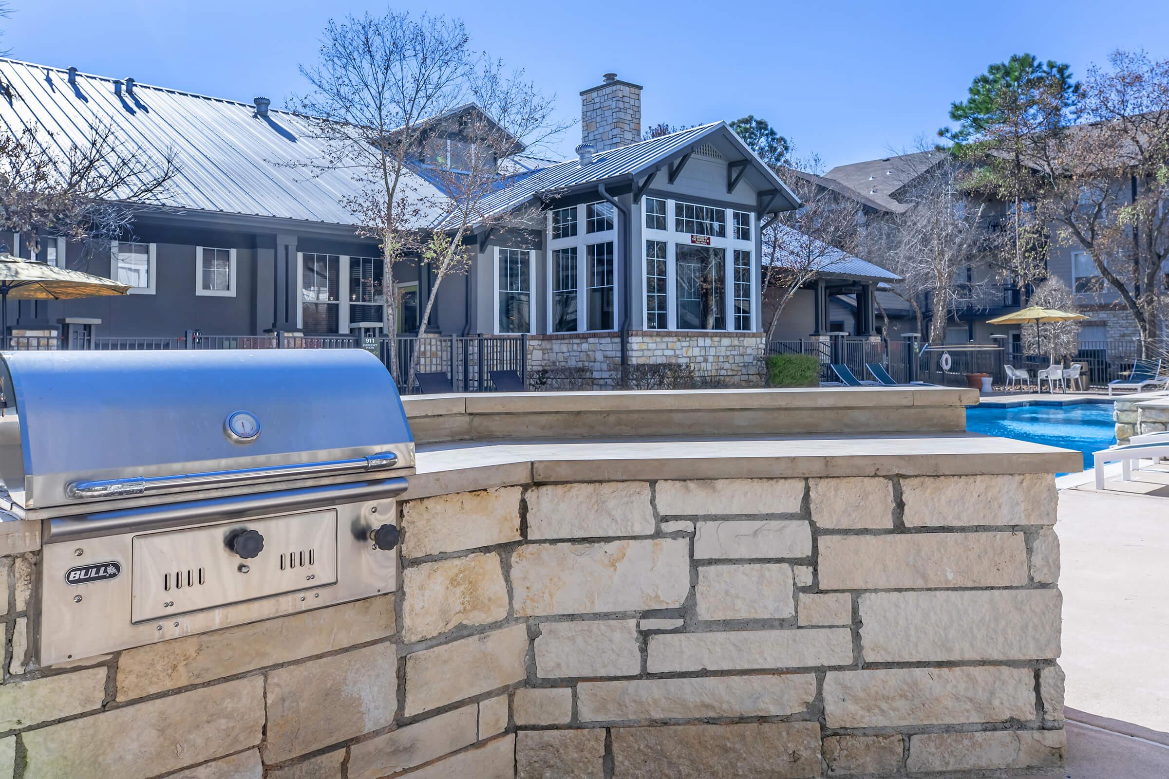
<path id="1" fill-rule="evenodd" d="M 646 195 L 649 197 L 649 195 Z M 662 200 L 656 197 L 655 200 Z M 742 207 L 719 207 L 719 206 L 707 206 L 707 208 L 722 208 L 724 214 L 724 237 L 717 236 L 701 236 L 703 238 L 708 238 L 708 241 L 703 243 L 694 243 L 691 241 L 691 235 L 687 232 L 678 232 L 675 228 L 677 227 L 676 221 L 676 208 L 677 203 L 690 203 L 692 206 L 704 206 L 704 203 L 696 203 L 693 200 L 687 199 L 666 199 L 666 229 L 655 230 L 644 227 L 645 216 L 643 209 L 638 207 L 638 218 L 642 220 L 642 242 L 637 251 L 641 257 L 642 266 L 642 287 L 645 288 L 646 269 L 649 266 L 649 259 L 645 256 L 645 242 L 646 241 L 664 241 L 666 244 L 665 256 L 665 273 L 666 273 L 666 327 L 665 329 L 655 328 L 656 332 L 666 331 L 679 331 L 678 327 L 678 274 L 676 266 L 676 249 L 680 245 L 701 245 L 710 246 L 712 249 L 722 250 L 722 273 L 724 273 L 724 315 L 722 320 L 726 327 L 717 331 L 701 331 L 704 333 L 753 333 L 759 326 L 759 315 L 756 313 L 759 307 L 759 281 L 760 281 L 760 257 L 758 251 L 755 251 L 754 238 L 749 241 L 740 241 L 734 237 L 734 211 L 741 211 L 750 215 L 750 235 L 754 237 L 759 230 L 759 216 L 754 211 L 748 211 L 742 209 Z M 746 331 L 734 329 L 734 250 L 750 252 L 750 327 Z M 618 274 L 620 276 L 620 274 Z M 641 325 L 643 329 L 650 329 L 649 327 L 649 311 L 645 302 L 642 302 L 642 317 Z"/>

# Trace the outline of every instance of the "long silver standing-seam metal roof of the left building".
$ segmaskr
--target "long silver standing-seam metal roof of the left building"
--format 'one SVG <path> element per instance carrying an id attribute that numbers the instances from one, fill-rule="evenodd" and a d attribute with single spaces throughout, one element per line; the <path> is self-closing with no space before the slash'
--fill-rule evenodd
<path id="1" fill-rule="evenodd" d="M 164 204 L 201 211 L 358 224 L 340 203 L 360 185 L 345 171 L 307 171 L 288 162 L 319 160 L 324 146 L 310 138 L 309 120 L 270 110 L 258 117 L 250 103 L 134 83 L 115 92 L 119 79 L 11 58 L 0 58 L 0 81 L 11 97 L 0 99 L 0 126 L 12 133 L 40 127 L 53 133 L 62 154 L 84 144 L 91 123 L 111 126 L 134 154 L 161 160 L 173 149 L 179 175 Z M 419 197 L 445 204 L 449 199 L 413 173 L 403 183 Z M 422 220 L 443 215 L 436 207 Z"/>

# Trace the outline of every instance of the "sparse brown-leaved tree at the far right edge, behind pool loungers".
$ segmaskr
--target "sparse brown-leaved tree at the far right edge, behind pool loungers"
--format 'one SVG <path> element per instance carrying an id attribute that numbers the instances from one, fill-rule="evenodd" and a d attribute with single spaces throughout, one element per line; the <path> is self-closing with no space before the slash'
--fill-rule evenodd
<path id="1" fill-rule="evenodd" d="M 1165 302 L 1169 259 L 1169 60 L 1115 51 L 1088 70 L 1084 124 L 1030 158 L 1045 179 L 1045 217 L 1060 243 L 1091 256 L 1132 313 L 1147 350 Z"/>

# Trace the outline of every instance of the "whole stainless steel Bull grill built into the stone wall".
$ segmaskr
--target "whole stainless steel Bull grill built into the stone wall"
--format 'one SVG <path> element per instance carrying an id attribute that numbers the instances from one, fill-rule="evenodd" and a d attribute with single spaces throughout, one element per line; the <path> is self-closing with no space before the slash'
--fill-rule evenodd
<path id="1" fill-rule="evenodd" d="M 0 356 L 42 665 L 396 589 L 414 439 L 360 349 Z"/>

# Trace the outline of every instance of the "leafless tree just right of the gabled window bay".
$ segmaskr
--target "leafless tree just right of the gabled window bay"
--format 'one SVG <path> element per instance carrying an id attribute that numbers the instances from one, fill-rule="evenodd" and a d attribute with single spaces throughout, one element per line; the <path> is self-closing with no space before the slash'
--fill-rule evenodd
<path id="1" fill-rule="evenodd" d="M 812 155 L 776 171 L 803 206 L 777 215 L 762 231 L 762 295 L 773 306 L 768 340 L 795 293 L 856 251 L 859 207 L 817 181 L 821 167 Z"/>

